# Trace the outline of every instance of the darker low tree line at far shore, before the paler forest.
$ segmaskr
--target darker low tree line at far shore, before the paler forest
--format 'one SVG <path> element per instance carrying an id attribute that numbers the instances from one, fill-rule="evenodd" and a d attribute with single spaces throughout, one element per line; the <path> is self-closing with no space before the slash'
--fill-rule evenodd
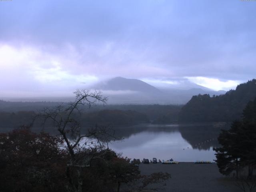
<path id="1" fill-rule="evenodd" d="M 0 112 L 0 127 L 11 130 L 20 125 L 33 122 L 37 112 L 19 111 L 19 112 Z M 132 110 L 100 110 L 95 112 L 86 112 L 80 114 L 75 112 L 73 116 L 80 121 L 83 126 L 100 125 L 133 125 L 149 122 L 145 114 Z M 47 124 L 46 124 L 47 125 Z M 34 122 L 34 126 L 41 127 L 40 122 Z"/>

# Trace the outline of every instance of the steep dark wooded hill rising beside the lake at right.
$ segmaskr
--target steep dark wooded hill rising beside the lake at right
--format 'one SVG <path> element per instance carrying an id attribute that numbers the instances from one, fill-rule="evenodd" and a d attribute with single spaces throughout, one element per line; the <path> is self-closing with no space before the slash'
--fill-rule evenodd
<path id="1" fill-rule="evenodd" d="M 224 95 L 209 94 L 193 96 L 182 107 L 180 122 L 232 122 L 240 119 L 242 111 L 250 100 L 256 98 L 256 79 L 239 84 L 236 90 Z"/>

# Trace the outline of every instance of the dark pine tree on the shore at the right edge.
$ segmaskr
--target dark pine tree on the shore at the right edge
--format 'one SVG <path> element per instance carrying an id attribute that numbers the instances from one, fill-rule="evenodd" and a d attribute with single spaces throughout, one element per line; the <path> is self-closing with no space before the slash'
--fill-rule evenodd
<path id="1" fill-rule="evenodd" d="M 215 148 L 216 162 L 224 175 L 248 167 L 248 178 L 252 178 L 256 166 L 256 99 L 248 102 L 242 121 L 234 121 L 230 130 L 222 130 L 218 137 L 220 148 Z"/>

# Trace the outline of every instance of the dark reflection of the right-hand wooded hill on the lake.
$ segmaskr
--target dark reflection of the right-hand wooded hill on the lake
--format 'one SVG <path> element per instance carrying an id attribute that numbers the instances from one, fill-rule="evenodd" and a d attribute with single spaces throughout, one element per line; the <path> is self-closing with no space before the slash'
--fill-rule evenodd
<path id="1" fill-rule="evenodd" d="M 179 131 L 193 149 L 210 150 L 218 147 L 218 136 L 221 129 L 228 129 L 228 123 L 179 125 Z"/>

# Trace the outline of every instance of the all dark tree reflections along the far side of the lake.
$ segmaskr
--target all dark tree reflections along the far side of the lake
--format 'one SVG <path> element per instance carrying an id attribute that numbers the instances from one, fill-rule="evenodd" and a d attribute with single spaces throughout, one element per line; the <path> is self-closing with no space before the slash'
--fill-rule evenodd
<path id="1" fill-rule="evenodd" d="M 135 126 L 113 126 L 116 138 L 129 138 L 142 132 L 160 133 L 160 132 L 180 132 L 193 149 L 210 150 L 211 147 L 218 147 L 218 135 L 221 129 L 230 128 L 230 124 L 215 123 L 215 124 L 180 124 L 180 125 L 151 125 L 139 124 Z M 40 132 L 42 130 L 49 132 L 52 135 L 57 134 L 56 130 L 51 127 L 33 127 L 33 131 Z M 86 132 L 86 128 L 81 130 L 82 133 Z M 145 138 L 146 142 L 152 138 Z M 137 143 L 138 145 L 142 143 Z"/>

